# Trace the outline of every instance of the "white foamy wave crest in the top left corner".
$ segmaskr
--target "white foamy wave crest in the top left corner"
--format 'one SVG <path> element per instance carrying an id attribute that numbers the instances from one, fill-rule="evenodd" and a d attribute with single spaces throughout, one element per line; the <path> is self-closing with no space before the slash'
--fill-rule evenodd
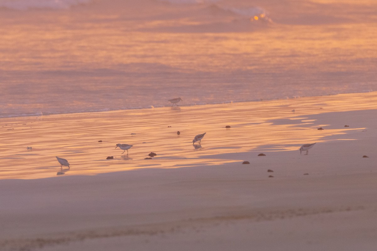
<path id="1" fill-rule="evenodd" d="M 28 9 L 68 9 L 70 6 L 88 3 L 91 0 L 0 0 L 0 8 Z"/>

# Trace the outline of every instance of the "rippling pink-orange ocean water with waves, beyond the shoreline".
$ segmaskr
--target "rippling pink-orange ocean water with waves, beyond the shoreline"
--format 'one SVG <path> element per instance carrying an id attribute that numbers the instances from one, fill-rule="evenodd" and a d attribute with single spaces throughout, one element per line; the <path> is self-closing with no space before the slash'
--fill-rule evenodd
<path id="1" fill-rule="evenodd" d="M 0 117 L 377 91 L 375 0 L 0 0 Z"/>

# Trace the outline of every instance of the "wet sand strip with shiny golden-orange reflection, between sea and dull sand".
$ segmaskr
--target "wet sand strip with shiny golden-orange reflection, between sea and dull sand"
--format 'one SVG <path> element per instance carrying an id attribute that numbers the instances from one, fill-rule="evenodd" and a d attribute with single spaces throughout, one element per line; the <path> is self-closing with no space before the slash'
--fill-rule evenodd
<path id="1" fill-rule="evenodd" d="M 241 161 L 226 155 L 237 152 L 296 151 L 305 143 L 332 140 L 332 135 L 345 134 L 343 138 L 349 140 L 348 131 L 363 129 L 319 131 L 318 127 L 326 125 L 307 114 L 377 109 L 376 101 L 377 92 L 373 92 L 1 119 L 0 178 L 224 164 Z M 204 132 L 200 147 L 193 145 L 193 137 Z M 123 150 L 115 149 L 117 143 L 133 147 L 128 155 L 121 155 Z M 157 156 L 144 159 L 150 152 Z M 61 171 L 55 156 L 66 158 L 70 170 L 63 167 Z M 108 156 L 114 159 L 106 160 Z"/>

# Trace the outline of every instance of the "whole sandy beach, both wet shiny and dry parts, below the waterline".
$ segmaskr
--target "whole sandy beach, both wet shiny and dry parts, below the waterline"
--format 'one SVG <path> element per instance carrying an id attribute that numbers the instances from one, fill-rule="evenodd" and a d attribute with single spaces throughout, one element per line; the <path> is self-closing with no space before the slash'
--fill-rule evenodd
<path id="1" fill-rule="evenodd" d="M 3 118 L 0 134 L 0 250 L 377 246 L 376 92 Z"/>

